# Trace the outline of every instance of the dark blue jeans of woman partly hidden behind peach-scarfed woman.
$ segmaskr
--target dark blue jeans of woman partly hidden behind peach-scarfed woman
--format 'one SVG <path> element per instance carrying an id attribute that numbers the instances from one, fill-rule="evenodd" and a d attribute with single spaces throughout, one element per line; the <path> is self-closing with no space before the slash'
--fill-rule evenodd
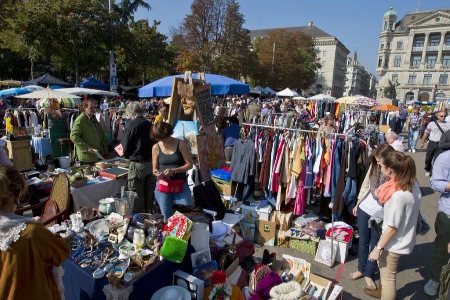
<path id="1" fill-rule="evenodd" d="M 370 252 L 373 251 L 379 240 L 379 234 L 372 227 L 368 227 L 370 215 L 358 207 L 358 231 L 359 231 L 359 251 L 358 251 L 358 271 L 365 277 L 373 279 L 377 262 L 368 261 Z"/>

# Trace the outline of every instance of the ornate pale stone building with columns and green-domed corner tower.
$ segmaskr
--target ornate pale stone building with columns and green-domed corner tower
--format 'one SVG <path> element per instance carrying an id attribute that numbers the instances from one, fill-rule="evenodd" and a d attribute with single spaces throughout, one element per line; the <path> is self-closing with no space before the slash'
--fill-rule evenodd
<path id="1" fill-rule="evenodd" d="M 392 87 L 400 103 L 450 98 L 450 9 L 416 10 L 397 18 L 391 6 L 378 35 L 377 100 L 390 104 Z"/>

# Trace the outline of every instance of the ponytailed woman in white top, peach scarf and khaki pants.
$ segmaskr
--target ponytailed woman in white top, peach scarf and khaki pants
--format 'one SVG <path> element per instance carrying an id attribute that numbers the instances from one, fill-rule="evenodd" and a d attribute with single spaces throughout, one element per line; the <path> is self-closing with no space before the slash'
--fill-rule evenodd
<path id="1" fill-rule="evenodd" d="M 380 170 L 388 181 L 380 185 L 377 196 L 384 206 L 383 233 L 370 253 L 378 261 L 381 283 L 378 289 L 364 292 L 383 300 L 395 299 L 396 276 L 400 256 L 410 254 L 415 246 L 417 218 L 422 194 L 416 182 L 416 168 L 411 156 L 384 152 Z"/>

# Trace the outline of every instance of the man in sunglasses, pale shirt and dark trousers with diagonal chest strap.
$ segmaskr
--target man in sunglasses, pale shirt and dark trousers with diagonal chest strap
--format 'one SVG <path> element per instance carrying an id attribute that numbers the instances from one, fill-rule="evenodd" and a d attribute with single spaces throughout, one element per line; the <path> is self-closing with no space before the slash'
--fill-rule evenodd
<path id="1" fill-rule="evenodd" d="M 436 112 L 436 115 L 437 121 L 428 124 L 422 137 L 422 143 L 420 144 L 420 149 L 423 149 L 425 140 L 429 137 L 425 156 L 425 176 L 427 177 L 429 177 L 431 172 L 433 158 L 436 159 L 441 152 L 439 147 L 440 137 L 445 131 L 450 129 L 450 123 L 445 121 L 445 117 L 447 116 L 445 111 L 438 111 Z"/>

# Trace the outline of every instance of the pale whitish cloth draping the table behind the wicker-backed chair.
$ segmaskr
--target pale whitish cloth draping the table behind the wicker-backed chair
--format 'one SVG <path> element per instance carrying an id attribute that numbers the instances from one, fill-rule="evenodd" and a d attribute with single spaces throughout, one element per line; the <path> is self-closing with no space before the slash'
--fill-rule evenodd
<path id="1" fill-rule="evenodd" d="M 110 198 L 112 194 L 120 190 L 121 186 L 127 186 L 127 178 L 116 180 L 105 180 L 95 184 L 90 184 L 80 188 L 70 188 L 70 193 L 73 197 L 75 210 L 79 207 L 97 208 L 98 201 L 105 198 Z"/>

